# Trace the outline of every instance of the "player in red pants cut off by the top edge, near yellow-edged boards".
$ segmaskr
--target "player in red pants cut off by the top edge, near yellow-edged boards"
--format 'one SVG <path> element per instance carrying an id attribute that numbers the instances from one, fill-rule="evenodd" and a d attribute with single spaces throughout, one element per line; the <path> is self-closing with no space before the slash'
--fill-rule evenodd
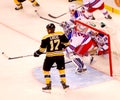
<path id="1" fill-rule="evenodd" d="M 93 12 L 96 10 L 100 10 L 106 19 L 112 19 L 112 17 L 104 7 L 103 0 L 83 0 L 83 5 L 89 14 L 89 18 L 92 20 L 95 20 Z"/>

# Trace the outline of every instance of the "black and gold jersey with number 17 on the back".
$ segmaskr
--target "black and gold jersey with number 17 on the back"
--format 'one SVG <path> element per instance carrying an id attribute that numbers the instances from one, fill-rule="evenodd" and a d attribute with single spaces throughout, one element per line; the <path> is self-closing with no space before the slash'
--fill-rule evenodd
<path id="1" fill-rule="evenodd" d="M 46 50 L 46 56 L 62 56 L 63 48 L 69 45 L 69 40 L 63 32 L 45 35 L 41 40 L 40 52 Z"/>

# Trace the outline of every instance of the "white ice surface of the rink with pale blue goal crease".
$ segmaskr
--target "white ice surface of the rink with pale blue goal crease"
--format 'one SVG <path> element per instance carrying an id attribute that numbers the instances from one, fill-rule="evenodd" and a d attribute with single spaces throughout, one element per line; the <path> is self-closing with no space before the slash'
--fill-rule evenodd
<path id="1" fill-rule="evenodd" d="M 60 15 L 68 12 L 67 0 L 38 0 L 40 7 L 32 7 L 29 1 L 23 3 L 23 10 L 15 11 L 13 0 L 2 0 L 0 4 L 0 100 L 120 100 L 120 16 L 110 12 L 112 20 L 106 20 L 99 12 L 95 13 L 98 21 L 111 27 L 111 36 L 117 53 L 113 55 L 113 77 L 97 70 L 88 68 L 88 72 L 76 75 L 75 81 L 70 81 L 72 87 L 64 92 L 60 85 L 53 87 L 52 93 L 44 93 L 41 88 L 45 85 L 39 71 L 45 55 L 39 58 L 33 56 L 8 60 L 8 57 L 32 55 L 40 45 L 42 36 L 46 33 L 49 21 L 39 18 L 35 10 L 45 18 L 62 22 L 69 18 L 52 19 L 48 13 Z M 72 2 L 72 3 L 77 3 Z M 56 25 L 56 31 L 62 28 Z M 2 52 L 4 52 L 3 55 Z M 105 67 L 102 63 L 100 66 Z M 66 64 L 72 66 L 72 64 Z M 101 67 L 101 68 L 102 68 Z M 72 75 L 74 70 L 67 72 Z M 54 72 L 54 70 L 53 70 Z M 53 74 L 54 75 L 54 74 Z M 73 75 L 73 77 L 76 77 Z M 80 81 L 79 81 L 80 80 Z M 42 81 L 42 82 L 41 82 Z M 59 80 L 58 80 L 59 81 Z M 53 81 L 54 83 L 54 81 Z M 57 82 L 56 82 L 57 83 Z M 59 84 L 59 83 L 57 83 Z"/>

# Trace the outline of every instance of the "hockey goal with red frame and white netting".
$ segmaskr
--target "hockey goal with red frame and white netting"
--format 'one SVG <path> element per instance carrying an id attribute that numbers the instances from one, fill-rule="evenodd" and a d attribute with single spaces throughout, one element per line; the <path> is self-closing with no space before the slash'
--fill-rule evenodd
<path id="1" fill-rule="evenodd" d="M 80 21 L 80 20 L 76 20 L 75 21 L 75 29 L 76 31 L 80 31 L 81 27 L 87 28 L 87 30 L 89 30 L 88 32 L 94 32 L 94 33 L 100 33 L 100 36 L 106 36 L 107 37 L 107 45 L 108 45 L 108 49 L 107 52 L 101 53 L 101 54 L 94 54 L 94 61 L 92 62 L 92 64 L 90 65 L 91 67 L 105 73 L 108 74 L 110 76 L 113 75 L 113 71 L 112 71 L 112 53 L 111 53 L 111 41 L 110 41 L 110 35 L 107 34 L 104 30 L 103 27 L 101 27 L 101 23 L 97 24 L 100 27 L 96 27 L 96 24 L 94 22 L 84 22 L 84 21 Z M 98 35 L 96 35 L 98 36 Z M 95 37 L 95 36 L 94 36 Z M 92 38 L 94 39 L 94 38 Z M 100 49 L 99 48 L 99 44 L 96 42 L 96 46 L 95 48 Z M 99 41 L 100 42 L 100 41 Z M 97 49 L 95 52 L 97 52 Z M 104 51 L 104 49 L 103 49 Z M 86 63 L 87 60 L 85 59 L 85 57 L 82 57 L 83 61 Z"/>

